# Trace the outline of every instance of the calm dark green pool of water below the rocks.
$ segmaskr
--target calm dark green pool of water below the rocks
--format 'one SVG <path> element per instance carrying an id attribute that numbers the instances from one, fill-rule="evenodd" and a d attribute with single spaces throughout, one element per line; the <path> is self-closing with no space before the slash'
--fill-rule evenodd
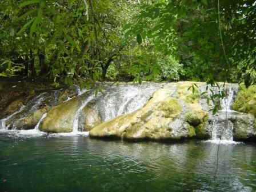
<path id="1" fill-rule="evenodd" d="M 255 149 L 0 134 L 0 191 L 255 191 Z"/>

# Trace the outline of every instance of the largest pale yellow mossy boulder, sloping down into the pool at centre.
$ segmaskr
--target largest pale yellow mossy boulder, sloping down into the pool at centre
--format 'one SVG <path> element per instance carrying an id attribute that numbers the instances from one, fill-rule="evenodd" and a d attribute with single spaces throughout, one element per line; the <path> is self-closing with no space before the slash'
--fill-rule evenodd
<path id="1" fill-rule="evenodd" d="M 171 97 L 175 89 L 170 86 L 157 90 L 141 109 L 95 126 L 90 136 L 154 140 L 193 137 L 189 123 L 179 118 L 182 107 Z"/>

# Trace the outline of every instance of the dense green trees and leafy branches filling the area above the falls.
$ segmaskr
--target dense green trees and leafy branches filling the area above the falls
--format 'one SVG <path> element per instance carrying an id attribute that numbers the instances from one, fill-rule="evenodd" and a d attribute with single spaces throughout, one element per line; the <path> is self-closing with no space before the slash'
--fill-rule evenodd
<path id="1" fill-rule="evenodd" d="M 5 0 L 0 75 L 255 84 L 256 3 Z"/>

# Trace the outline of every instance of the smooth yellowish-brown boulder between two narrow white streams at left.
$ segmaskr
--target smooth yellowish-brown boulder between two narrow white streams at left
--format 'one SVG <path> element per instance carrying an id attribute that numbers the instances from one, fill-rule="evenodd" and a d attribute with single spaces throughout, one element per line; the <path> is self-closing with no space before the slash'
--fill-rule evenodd
<path id="1" fill-rule="evenodd" d="M 51 133 L 68 133 L 73 130 L 75 112 L 78 110 L 80 97 L 75 97 L 54 106 L 43 119 L 39 129 Z"/>

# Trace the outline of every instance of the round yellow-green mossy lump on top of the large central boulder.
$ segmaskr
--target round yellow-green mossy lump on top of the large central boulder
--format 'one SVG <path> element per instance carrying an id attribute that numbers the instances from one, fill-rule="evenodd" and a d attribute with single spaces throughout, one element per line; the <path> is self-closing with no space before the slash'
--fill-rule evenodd
<path id="1" fill-rule="evenodd" d="M 181 113 L 181 105 L 175 98 L 166 99 L 158 104 L 158 110 L 163 113 L 163 117 L 175 118 Z"/>

